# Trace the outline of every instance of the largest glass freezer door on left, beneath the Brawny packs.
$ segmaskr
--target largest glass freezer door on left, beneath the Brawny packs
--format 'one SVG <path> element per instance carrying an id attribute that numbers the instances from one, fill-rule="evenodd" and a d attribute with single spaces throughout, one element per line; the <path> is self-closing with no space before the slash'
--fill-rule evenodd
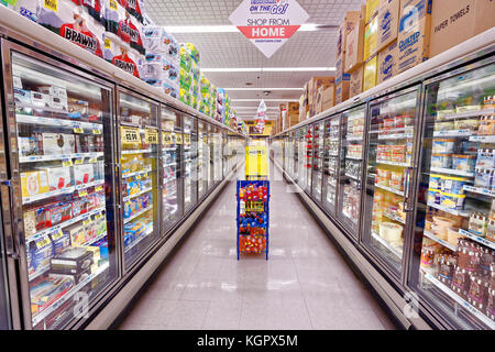
<path id="1" fill-rule="evenodd" d="M 62 63 L 14 51 L 9 59 L 14 217 L 31 300 L 23 305 L 33 329 L 64 329 L 81 318 L 78 299 L 94 301 L 118 277 L 112 90 Z"/>

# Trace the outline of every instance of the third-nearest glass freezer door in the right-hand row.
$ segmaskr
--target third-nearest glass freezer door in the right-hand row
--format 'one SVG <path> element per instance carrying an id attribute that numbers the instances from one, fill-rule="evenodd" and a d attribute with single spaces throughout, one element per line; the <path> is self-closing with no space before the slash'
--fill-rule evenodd
<path id="1" fill-rule="evenodd" d="M 365 106 L 342 113 L 338 217 L 358 238 L 361 216 L 361 187 Z"/>

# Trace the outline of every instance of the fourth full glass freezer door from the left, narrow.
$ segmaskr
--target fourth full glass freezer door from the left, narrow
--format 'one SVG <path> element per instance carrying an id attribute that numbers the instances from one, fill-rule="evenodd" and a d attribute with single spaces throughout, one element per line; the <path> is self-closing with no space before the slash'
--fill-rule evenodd
<path id="1" fill-rule="evenodd" d="M 198 201 L 198 141 L 196 120 L 184 117 L 184 208 L 185 212 Z"/>

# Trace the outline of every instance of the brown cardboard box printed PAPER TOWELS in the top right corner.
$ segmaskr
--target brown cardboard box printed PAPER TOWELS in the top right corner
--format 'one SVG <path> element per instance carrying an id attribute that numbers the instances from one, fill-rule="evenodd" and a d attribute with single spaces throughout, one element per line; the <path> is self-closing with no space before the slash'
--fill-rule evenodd
<path id="1" fill-rule="evenodd" d="M 431 12 L 430 57 L 494 26 L 493 0 L 436 0 Z"/>

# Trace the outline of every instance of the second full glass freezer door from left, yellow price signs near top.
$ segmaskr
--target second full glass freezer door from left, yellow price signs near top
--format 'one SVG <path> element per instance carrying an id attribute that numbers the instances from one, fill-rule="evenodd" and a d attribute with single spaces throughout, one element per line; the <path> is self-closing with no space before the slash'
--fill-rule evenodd
<path id="1" fill-rule="evenodd" d="M 120 92 L 120 164 L 125 267 L 160 238 L 158 107 Z"/>

